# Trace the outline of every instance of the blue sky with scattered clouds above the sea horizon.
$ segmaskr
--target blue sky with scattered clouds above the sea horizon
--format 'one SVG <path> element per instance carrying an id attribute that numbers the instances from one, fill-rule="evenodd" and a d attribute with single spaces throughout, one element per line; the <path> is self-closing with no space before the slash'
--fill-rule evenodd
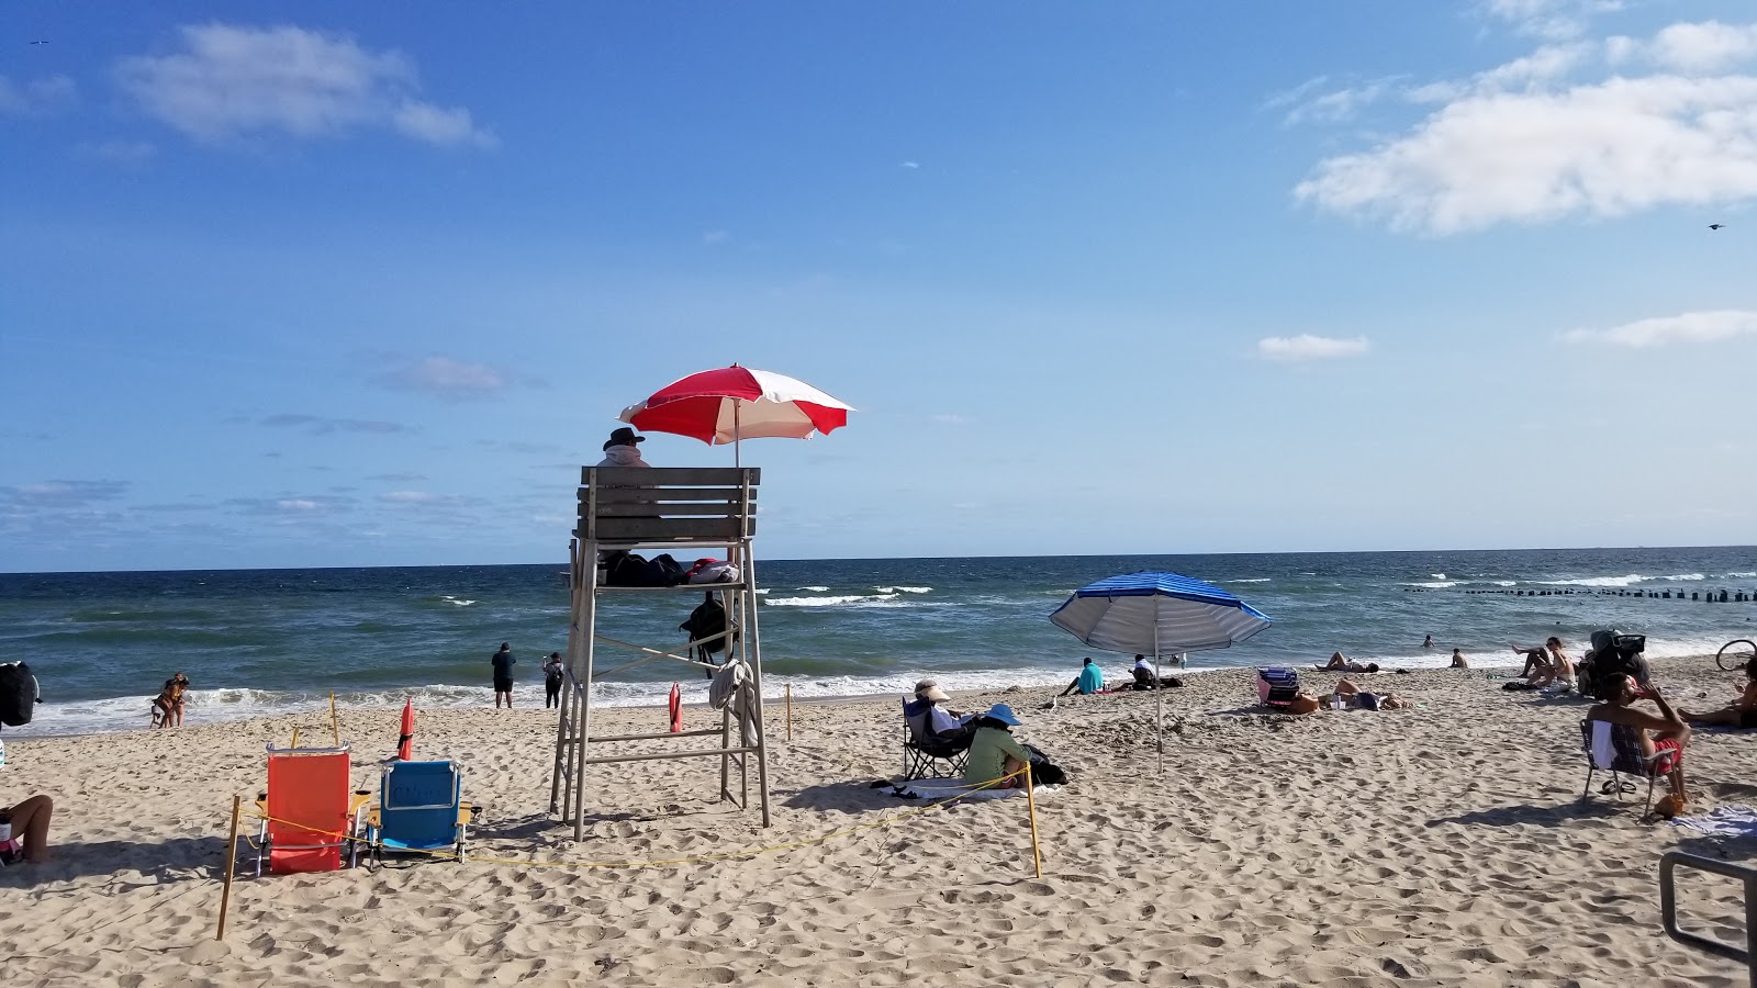
<path id="1" fill-rule="evenodd" d="M 1757 543 L 1746 2 L 21 2 L 0 188 L 0 570 L 557 561 L 734 360 L 770 557 Z"/>

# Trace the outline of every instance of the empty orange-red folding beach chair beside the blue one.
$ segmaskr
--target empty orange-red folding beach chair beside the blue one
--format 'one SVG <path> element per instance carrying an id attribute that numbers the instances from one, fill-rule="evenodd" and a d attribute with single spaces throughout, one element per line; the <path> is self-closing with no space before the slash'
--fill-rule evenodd
<path id="1" fill-rule="evenodd" d="M 348 745 L 269 745 L 269 791 L 257 800 L 257 877 L 264 863 L 271 874 L 334 872 L 343 846 L 348 865 L 358 863 L 353 842 L 371 796 L 348 789 L 350 768 Z"/>

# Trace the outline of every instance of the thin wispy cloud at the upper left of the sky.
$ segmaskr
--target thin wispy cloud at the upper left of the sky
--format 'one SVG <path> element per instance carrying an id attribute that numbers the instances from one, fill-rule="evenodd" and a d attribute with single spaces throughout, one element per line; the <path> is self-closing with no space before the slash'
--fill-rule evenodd
<path id="1" fill-rule="evenodd" d="M 415 65 L 351 37 L 295 26 L 181 28 L 183 51 L 123 60 L 118 79 L 153 118 L 197 141 L 388 128 L 446 146 L 492 146 L 469 111 L 416 98 Z"/>

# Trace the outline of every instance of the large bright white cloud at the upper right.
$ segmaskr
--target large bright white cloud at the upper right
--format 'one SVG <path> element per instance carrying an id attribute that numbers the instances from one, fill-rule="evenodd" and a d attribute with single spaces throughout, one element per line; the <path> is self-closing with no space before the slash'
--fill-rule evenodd
<path id="1" fill-rule="evenodd" d="M 1757 25 L 1546 46 L 1462 83 L 1409 90 L 1442 105 L 1372 149 L 1320 162 L 1295 197 L 1435 236 L 1752 199 L 1757 76 L 1699 72 L 1741 58 L 1757 60 Z M 1571 81 L 1630 62 L 1667 72 Z"/>

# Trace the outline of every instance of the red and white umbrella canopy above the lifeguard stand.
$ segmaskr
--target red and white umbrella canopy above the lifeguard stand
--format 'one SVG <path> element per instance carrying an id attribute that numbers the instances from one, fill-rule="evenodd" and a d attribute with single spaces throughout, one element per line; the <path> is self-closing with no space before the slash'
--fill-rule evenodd
<path id="1" fill-rule="evenodd" d="M 715 367 L 671 381 L 618 418 L 650 432 L 710 445 L 740 440 L 805 440 L 849 424 L 849 404 L 812 385 L 752 367 Z"/>

